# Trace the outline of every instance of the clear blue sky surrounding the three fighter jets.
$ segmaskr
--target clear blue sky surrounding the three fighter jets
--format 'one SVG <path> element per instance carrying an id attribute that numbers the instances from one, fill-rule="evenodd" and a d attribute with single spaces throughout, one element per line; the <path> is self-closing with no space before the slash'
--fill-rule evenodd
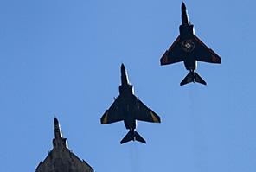
<path id="1" fill-rule="evenodd" d="M 97 172 L 256 171 L 255 6 L 185 1 L 222 64 L 198 62 L 208 86 L 179 86 L 182 63 L 160 58 L 179 35 L 182 1 L 0 2 L 0 171 L 35 171 L 52 149 L 54 116 L 69 149 Z M 124 62 L 135 94 L 161 117 L 125 143 L 99 118 L 118 96 Z"/>

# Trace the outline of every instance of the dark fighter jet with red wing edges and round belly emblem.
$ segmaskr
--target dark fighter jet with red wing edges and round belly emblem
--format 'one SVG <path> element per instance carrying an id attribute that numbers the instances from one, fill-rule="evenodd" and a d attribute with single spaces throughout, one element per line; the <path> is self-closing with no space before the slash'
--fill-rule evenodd
<path id="1" fill-rule="evenodd" d="M 182 3 L 182 25 L 180 25 L 180 35 L 170 48 L 163 54 L 161 65 L 168 65 L 184 61 L 184 65 L 189 74 L 181 82 L 181 86 L 189 82 L 199 82 L 206 85 L 206 82 L 195 73 L 197 61 L 209 63 L 221 63 L 221 57 L 208 48 L 195 35 L 194 26 L 189 22 L 188 11 Z"/>

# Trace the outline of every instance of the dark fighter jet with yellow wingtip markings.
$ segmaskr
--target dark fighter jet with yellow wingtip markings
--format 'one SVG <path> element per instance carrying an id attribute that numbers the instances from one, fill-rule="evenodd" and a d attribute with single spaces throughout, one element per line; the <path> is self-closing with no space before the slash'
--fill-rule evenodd
<path id="1" fill-rule="evenodd" d="M 121 66 L 121 81 L 122 85 L 119 86 L 120 94 L 100 118 L 101 124 L 111 124 L 124 120 L 126 129 L 130 131 L 120 143 L 127 143 L 131 140 L 146 143 L 144 138 L 135 131 L 137 120 L 160 123 L 160 117 L 135 97 L 133 86 L 128 80 L 124 64 Z"/>

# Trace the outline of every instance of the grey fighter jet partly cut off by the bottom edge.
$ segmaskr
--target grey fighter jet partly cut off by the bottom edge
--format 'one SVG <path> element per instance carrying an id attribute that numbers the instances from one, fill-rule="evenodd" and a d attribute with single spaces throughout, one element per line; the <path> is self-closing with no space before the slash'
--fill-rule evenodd
<path id="1" fill-rule="evenodd" d="M 40 162 L 35 172 L 93 172 L 93 168 L 81 161 L 71 150 L 67 148 L 67 138 L 61 134 L 61 126 L 57 118 L 54 118 L 54 149 L 48 152 L 48 156 Z"/>

